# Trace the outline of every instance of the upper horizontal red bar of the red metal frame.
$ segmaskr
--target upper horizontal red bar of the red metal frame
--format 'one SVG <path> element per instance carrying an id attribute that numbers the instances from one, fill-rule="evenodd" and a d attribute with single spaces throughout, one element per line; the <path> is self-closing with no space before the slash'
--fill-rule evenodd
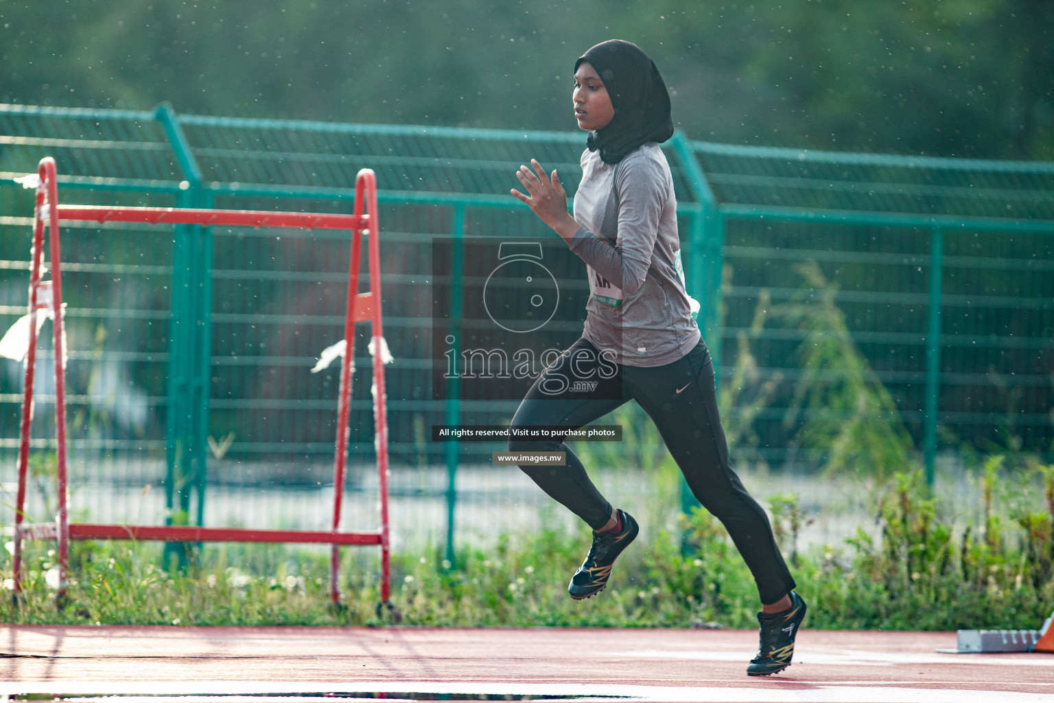
<path id="1" fill-rule="evenodd" d="M 260 210 L 203 210 L 194 208 L 98 208 L 59 206 L 61 219 L 204 227 L 290 227 L 308 230 L 355 230 L 367 224 L 362 215 L 332 215 Z"/>

